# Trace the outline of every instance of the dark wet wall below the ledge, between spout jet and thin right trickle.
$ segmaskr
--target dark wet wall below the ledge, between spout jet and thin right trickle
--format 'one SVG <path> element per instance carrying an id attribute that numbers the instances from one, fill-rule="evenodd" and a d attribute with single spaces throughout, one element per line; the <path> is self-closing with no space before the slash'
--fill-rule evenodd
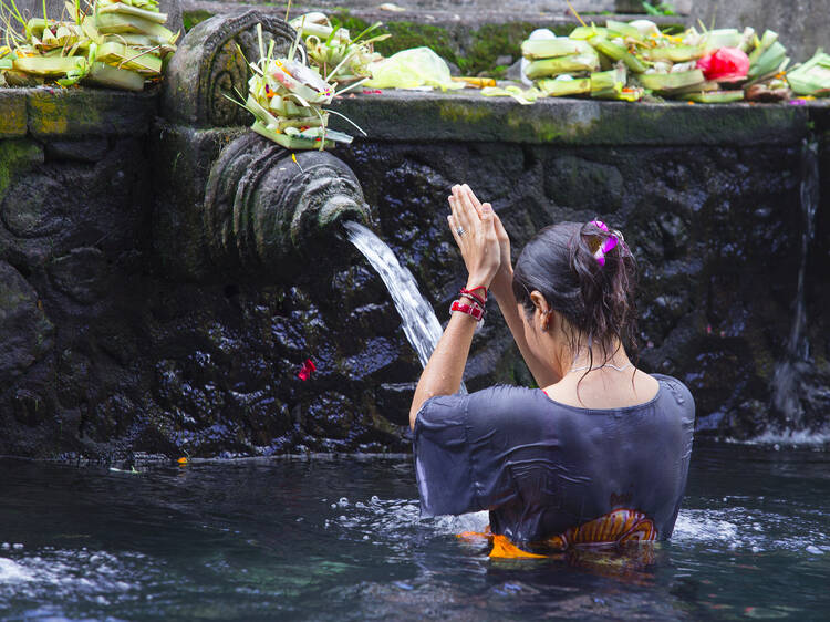
<path id="1" fill-rule="evenodd" d="M 799 268 L 799 158 L 798 147 L 498 144 L 361 145 L 345 156 L 370 203 L 384 206 L 376 212 L 383 239 L 439 317 L 464 278 L 445 225 L 453 183 L 467 182 L 492 203 L 515 258 L 551 222 L 600 217 L 622 229 L 640 262 L 642 366 L 686 382 L 701 417 L 738 437 L 759 433 L 771 418 L 770 383 Z M 826 282 L 818 271 L 808 278 Z M 492 307 L 474 341 L 471 388 L 529 381 Z M 813 309 L 810 317 L 818 333 L 822 315 Z M 827 384 L 826 374 L 812 375 Z M 824 421 L 815 406 L 808 411 L 808 425 Z"/>

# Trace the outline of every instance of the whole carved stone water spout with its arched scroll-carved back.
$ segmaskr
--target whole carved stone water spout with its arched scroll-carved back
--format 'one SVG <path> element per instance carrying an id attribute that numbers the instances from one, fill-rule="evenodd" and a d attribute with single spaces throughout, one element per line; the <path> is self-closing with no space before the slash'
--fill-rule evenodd
<path id="1" fill-rule="evenodd" d="M 248 61 L 263 43 L 284 54 L 295 32 L 258 11 L 216 15 L 187 33 L 170 61 L 158 126 L 154 236 L 165 269 L 188 280 L 267 280 L 333 255 L 345 220 L 366 222 L 354 173 L 325 152 L 291 152 L 248 129 L 229 97 L 248 92 Z M 302 43 L 300 52 L 303 54 Z"/>

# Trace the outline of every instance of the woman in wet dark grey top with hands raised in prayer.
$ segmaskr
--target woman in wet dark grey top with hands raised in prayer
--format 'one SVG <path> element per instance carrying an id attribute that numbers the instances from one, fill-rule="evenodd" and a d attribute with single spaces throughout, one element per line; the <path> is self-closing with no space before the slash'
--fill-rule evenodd
<path id="1" fill-rule="evenodd" d="M 422 514 L 487 509 L 492 533 L 556 548 L 667 538 L 694 401 L 629 360 L 635 265 L 622 235 L 599 221 L 548 227 L 513 271 L 490 205 L 466 185 L 449 205 L 468 279 L 409 412 Z M 487 291 L 541 390 L 457 394 Z"/>

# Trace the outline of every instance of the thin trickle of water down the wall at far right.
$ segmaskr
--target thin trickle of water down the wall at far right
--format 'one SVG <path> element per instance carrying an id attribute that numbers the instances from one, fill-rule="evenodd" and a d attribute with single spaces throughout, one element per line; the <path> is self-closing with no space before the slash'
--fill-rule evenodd
<path id="1" fill-rule="evenodd" d="M 772 376 L 772 406 L 784 417 L 784 424 L 789 431 L 799 431 L 805 426 L 805 408 L 799 398 L 801 367 L 810 357 L 810 343 L 805 334 L 807 325 L 805 276 L 810 242 L 816 234 L 816 210 L 819 205 L 818 151 L 819 146 L 816 141 L 805 141 L 801 151 L 800 187 L 801 214 L 805 222 L 801 234 L 801 261 L 798 269 L 795 313 L 785 359 L 776 365 Z"/>

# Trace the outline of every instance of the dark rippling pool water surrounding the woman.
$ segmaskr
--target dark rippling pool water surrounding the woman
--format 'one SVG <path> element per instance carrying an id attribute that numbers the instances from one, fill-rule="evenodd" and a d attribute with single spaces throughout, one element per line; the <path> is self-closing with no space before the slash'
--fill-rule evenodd
<path id="1" fill-rule="evenodd" d="M 3 620 L 790 619 L 830 611 L 830 454 L 695 447 L 674 537 L 490 560 L 419 520 L 411 459 L 0 460 Z"/>

